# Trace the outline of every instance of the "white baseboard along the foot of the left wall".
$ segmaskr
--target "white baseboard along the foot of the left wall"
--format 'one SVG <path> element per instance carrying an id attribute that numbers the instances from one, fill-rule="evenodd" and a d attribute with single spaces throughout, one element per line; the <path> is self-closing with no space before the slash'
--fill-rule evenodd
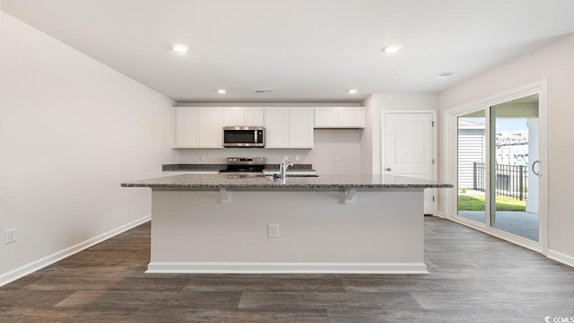
<path id="1" fill-rule="evenodd" d="M 91 239 L 84 240 L 83 242 L 80 242 L 80 243 L 78 243 L 72 247 L 57 251 L 56 253 L 53 253 L 47 257 L 40 258 L 38 260 L 30 262 L 27 265 L 13 269 L 12 271 L 9 271 L 3 275 L 0 275 L 0 287 L 4 286 L 4 284 L 12 283 L 16 279 L 22 278 L 25 275 L 30 275 L 31 273 L 33 273 L 33 272 L 35 272 L 35 271 L 37 271 L 37 270 L 39 270 L 45 266 L 52 265 L 59 260 L 70 257 L 70 256 L 72 256 L 72 255 L 74 255 L 74 254 L 76 254 L 82 250 L 88 249 L 91 246 L 94 246 L 94 245 L 96 245 L 96 244 L 98 244 L 104 240 L 108 240 L 109 238 L 114 237 L 119 233 L 133 229 L 142 223 L 146 223 L 146 222 L 150 221 L 151 219 L 152 219 L 152 215 L 148 214 L 148 215 L 143 216 L 142 218 L 137 219 L 131 223 L 126 223 L 120 227 L 117 227 L 116 229 L 104 232 L 104 233 L 102 233 L 96 237 L 91 238 Z"/>

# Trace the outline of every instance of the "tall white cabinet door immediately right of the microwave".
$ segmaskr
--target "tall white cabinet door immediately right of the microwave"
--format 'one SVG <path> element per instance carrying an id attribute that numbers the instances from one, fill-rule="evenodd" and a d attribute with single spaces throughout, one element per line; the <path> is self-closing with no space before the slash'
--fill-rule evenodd
<path id="1" fill-rule="evenodd" d="M 289 108 L 265 108 L 265 148 L 289 146 Z"/>

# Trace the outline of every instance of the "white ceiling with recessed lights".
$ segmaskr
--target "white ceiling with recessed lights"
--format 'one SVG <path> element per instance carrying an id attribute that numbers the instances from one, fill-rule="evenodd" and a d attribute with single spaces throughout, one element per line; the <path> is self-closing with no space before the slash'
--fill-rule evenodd
<path id="1" fill-rule="evenodd" d="M 2 0 L 178 102 L 441 92 L 574 32 L 571 0 Z M 187 55 L 170 46 L 181 43 Z M 386 55 L 381 48 L 400 44 Z M 457 74 L 433 79 L 442 72 Z M 224 88 L 226 94 L 218 94 Z M 272 93 L 255 93 L 269 88 Z M 356 94 L 347 90 L 358 89 Z"/>

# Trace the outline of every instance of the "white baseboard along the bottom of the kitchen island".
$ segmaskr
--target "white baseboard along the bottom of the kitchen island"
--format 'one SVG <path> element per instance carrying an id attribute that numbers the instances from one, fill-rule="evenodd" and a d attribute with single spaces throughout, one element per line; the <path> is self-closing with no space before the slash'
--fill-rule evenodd
<path id="1" fill-rule="evenodd" d="M 146 273 L 429 274 L 424 263 L 151 262 Z"/>

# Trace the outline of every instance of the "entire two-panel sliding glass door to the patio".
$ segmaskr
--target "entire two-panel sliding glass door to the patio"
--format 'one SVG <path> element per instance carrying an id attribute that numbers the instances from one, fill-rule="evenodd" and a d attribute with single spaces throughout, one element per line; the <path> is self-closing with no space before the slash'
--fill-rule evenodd
<path id="1" fill-rule="evenodd" d="M 457 215 L 539 240 L 538 94 L 457 117 Z"/>

